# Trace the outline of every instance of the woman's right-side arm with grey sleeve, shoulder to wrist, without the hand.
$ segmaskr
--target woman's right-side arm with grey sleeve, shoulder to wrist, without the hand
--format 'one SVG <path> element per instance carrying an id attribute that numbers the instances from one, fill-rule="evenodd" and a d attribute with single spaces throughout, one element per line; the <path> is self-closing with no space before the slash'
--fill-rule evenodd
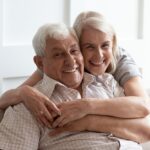
<path id="1" fill-rule="evenodd" d="M 101 105 L 94 106 L 93 103 L 92 106 L 91 103 L 92 110 L 96 111 L 95 114 L 121 118 L 144 117 L 150 113 L 150 100 L 142 85 L 141 72 L 126 50 L 120 48 L 119 51 L 114 77 L 124 88 L 125 97 L 118 95 L 107 101 L 101 100 Z"/>

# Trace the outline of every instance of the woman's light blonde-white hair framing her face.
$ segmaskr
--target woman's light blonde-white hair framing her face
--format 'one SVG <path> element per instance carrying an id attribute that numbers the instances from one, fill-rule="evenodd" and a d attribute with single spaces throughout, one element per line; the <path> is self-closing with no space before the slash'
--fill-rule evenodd
<path id="1" fill-rule="evenodd" d="M 107 72 L 113 73 L 116 69 L 116 63 L 117 63 L 116 57 L 118 55 L 117 37 L 114 28 L 106 20 L 106 18 L 102 14 L 95 11 L 82 12 L 76 18 L 73 27 L 76 31 L 79 40 L 81 38 L 81 34 L 83 30 L 88 27 L 106 33 L 113 38 L 113 50 L 112 50 L 113 58 L 111 64 L 107 69 Z"/>

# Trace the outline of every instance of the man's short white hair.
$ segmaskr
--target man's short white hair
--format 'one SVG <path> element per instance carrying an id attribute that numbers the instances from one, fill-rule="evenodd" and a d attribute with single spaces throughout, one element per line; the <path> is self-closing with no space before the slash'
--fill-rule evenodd
<path id="1" fill-rule="evenodd" d="M 32 45 L 36 55 L 44 56 L 47 38 L 63 40 L 69 35 L 74 36 L 75 39 L 78 41 L 78 38 L 73 28 L 69 28 L 63 23 L 44 24 L 37 30 L 32 40 Z"/>

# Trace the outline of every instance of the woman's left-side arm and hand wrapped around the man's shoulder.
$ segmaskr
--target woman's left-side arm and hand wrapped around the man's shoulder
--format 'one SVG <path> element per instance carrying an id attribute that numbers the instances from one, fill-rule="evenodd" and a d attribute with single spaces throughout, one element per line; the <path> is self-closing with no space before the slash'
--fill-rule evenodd
<path id="1" fill-rule="evenodd" d="M 42 76 L 39 71 L 35 71 L 18 88 L 6 91 L 0 98 L 0 109 L 5 110 L 10 105 L 23 102 L 40 123 L 50 127 L 53 121 L 50 111 L 60 115 L 60 110 L 48 97 L 31 87 L 41 80 L 41 78 Z M 2 115 L 3 113 L 1 113 L 1 118 Z"/>

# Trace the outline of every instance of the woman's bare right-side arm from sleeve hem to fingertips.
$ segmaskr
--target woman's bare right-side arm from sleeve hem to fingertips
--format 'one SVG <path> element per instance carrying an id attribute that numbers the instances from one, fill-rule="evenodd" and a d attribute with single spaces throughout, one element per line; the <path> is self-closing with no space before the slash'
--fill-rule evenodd
<path id="1" fill-rule="evenodd" d="M 115 80 L 113 80 L 115 81 Z M 115 83 L 117 83 L 115 81 Z M 120 88 L 114 86 L 115 89 Z M 129 96 L 109 99 L 84 98 L 58 105 L 61 116 L 53 123 L 53 127 L 63 126 L 87 114 L 113 116 L 118 118 L 142 118 L 150 113 L 150 101 L 143 90 L 140 78 L 134 77 L 125 85 L 125 93 Z M 113 90 L 113 89 L 112 89 Z M 118 95 L 119 96 L 119 95 Z"/>

